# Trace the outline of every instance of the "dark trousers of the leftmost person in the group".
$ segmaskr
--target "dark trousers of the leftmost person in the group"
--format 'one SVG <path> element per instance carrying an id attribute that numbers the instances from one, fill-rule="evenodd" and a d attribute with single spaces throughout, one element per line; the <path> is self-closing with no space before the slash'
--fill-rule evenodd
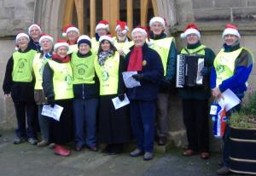
<path id="1" fill-rule="evenodd" d="M 36 138 L 35 111 L 36 104 L 33 102 L 15 102 L 15 112 L 18 122 L 16 135 L 18 137 Z"/>

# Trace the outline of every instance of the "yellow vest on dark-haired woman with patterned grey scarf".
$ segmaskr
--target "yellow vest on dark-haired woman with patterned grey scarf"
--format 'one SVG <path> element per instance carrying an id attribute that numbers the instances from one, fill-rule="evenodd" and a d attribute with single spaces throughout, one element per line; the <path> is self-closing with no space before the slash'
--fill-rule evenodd
<path id="1" fill-rule="evenodd" d="M 119 84 L 119 54 L 115 54 L 99 65 L 95 60 L 96 74 L 100 81 L 100 95 L 117 94 Z"/>

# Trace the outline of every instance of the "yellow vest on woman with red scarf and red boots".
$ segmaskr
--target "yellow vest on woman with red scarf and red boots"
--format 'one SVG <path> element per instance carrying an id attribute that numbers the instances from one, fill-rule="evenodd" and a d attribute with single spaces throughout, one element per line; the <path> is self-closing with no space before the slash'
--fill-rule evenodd
<path id="1" fill-rule="evenodd" d="M 53 86 L 55 99 L 73 98 L 73 73 L 70 62 L 58 63 L 49 60 L 49 67 L 54 71 Z"/>

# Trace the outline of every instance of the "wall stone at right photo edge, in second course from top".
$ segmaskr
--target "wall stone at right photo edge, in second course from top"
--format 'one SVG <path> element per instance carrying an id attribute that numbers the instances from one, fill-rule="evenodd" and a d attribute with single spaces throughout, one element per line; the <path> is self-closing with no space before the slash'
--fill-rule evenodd
<path id="1" fill-rule="evenodd" d="M 256 7 L 233 9 L 233 17 L 235 21 L 236 20 L 255 20 Z"/>

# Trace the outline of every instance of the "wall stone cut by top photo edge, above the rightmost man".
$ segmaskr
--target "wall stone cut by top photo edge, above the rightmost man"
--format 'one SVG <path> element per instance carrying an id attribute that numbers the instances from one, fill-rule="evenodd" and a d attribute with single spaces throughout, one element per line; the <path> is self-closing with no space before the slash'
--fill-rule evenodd
<path id="1" fill-rule="evenodd" d="M 247 1 L 245 0 L 215 0 L 216 8 L 234 8 L 246 7 Z"/>

